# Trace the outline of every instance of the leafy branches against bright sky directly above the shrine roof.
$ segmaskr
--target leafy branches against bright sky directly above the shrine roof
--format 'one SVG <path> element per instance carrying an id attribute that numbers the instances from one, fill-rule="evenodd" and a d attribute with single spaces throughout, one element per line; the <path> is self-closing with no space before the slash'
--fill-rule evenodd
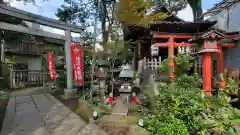
<path id="1" fill-rule="evenodd" d="M 187 7 L 187 0 L 153 0 L 153 8 L 158 9 L 161 6 L 166 6 L 173 14 Z"/>

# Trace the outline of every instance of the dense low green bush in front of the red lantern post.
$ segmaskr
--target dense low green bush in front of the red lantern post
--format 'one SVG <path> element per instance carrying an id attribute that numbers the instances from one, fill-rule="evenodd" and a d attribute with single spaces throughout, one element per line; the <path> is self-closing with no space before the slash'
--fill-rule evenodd
<path id="1" fill-rule="evenodd" d="M 167 86 L 159 91 L 155 110 L 145 112 L 146 128 L 152 135 L 164 134 L 165 128 L 172 125 L 175 128 L 169 133 L 186 133 L 182 131 L 184 126 L 188 134 L 205 135 L 212 128 L 226 132 L 231 119 L 235 119 L 235 113 L 239 111 L 233 109 L 225 98 L 207 97 L 199 88 L 184 88 L 177 84 L 173 88 Z"/>

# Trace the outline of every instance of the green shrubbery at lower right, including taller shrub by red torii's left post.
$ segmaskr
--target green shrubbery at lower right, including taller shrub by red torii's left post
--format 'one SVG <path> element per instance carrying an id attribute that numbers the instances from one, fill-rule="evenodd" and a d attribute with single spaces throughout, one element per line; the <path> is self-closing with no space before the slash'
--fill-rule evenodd
<path id="1" fill-rule="evenodd" d="M 175 57 L 175 73 L 182 73 L 176 76 L 172 88 L 169 84 L 159 88 L 155 109 L 144 111 L 146 129 L 151 135 L 235 135 L 231 126 L 234 120 L 239 119 L 239 110 L 229 104 L 226 93 L 206 96 L 199 87 L 199 77 L 187 75 L 186 69 L 190 67 L 187 65 L 192 65 L 189 57 Z M 186 69 L 177 68 L 180 63 Z M 162 64 L 168 65 L 167 62 Z"/>

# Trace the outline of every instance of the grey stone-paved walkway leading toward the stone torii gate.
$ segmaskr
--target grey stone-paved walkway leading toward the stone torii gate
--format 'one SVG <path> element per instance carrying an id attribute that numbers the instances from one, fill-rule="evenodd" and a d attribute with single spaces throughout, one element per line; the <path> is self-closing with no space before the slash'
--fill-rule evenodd
<path id="1" fill-rule="evenodd" d="M 85 135 L 85 126 L 50 94 L 13 96 L 0 135 Z"/>

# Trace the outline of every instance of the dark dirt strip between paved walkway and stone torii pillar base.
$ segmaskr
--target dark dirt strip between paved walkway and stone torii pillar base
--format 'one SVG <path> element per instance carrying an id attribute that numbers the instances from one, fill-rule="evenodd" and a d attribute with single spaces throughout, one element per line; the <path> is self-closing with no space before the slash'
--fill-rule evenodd
<path id="1" fill-rule="evenodd" d="M 51 95 L 54 96 L 59 101 L 61 101 L 66 107 L 71 109 L 73 112 L 75 112 L 76 109 L 78 108 L 78 98 L 64 100 L 61 97 L 61 95 L 63 95 L 63 94 L 64 94 L 64 91 L 57 90 L 57 91 L 53 92 Z"/>

